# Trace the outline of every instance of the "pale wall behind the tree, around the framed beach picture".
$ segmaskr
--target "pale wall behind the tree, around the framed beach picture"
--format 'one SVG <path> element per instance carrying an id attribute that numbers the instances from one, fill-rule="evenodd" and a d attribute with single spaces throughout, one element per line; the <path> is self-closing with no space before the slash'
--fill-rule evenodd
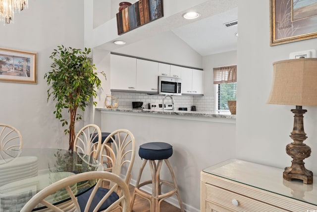
<path id="1" fill-rule="evenodd" d="M 0 23 L 0 48 L 37 53 L 37 84 L 0 81 L 0 123 L 16 127 L 23 147 L 68 148 L 64 129 L 47 102 L 44 74 L 57 45 L 83 48 L 83 0 L 29 0 L 29 8 L 15 14 L 15 23 Z"/>

